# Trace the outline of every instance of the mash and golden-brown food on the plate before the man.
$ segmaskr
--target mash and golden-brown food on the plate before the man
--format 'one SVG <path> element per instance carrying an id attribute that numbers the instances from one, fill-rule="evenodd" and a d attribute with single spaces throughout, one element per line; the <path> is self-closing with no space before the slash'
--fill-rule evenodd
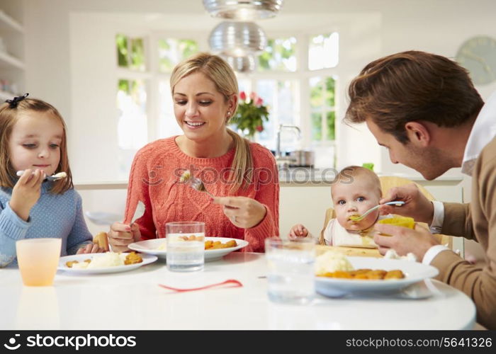
<path id="1" fill-rule="evenodd" d="M 342 253 L 327 251 L 317 256 L 315 261 L 317 277 L 354 280 L 392 280 L 405 278 L 401 270 L 354 269 Z"/>

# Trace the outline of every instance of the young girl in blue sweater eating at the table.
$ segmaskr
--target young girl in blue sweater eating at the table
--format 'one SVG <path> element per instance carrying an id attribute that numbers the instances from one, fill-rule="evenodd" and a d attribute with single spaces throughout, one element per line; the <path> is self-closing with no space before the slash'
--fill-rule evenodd
<path id="1" fill-rule="evenodd" d="M 0 106 L 0 261 L 15 260 L 17 240 L 40 237 L 62 239 L 62 256 L 101 252 L 72 185 L 64 120 L 52 105 L 27 96 Z M 58 172 L 67 177 L 45 180 Z"/>

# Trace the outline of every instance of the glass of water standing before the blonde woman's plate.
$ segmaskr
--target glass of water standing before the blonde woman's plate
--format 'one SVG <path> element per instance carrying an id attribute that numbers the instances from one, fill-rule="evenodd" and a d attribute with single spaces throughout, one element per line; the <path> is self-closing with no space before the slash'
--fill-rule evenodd
<path id="1" fill-rule="evenodd" d="M 174 272 L 203 270 L 205 222 L 167 222 L 167 268 Z"/>

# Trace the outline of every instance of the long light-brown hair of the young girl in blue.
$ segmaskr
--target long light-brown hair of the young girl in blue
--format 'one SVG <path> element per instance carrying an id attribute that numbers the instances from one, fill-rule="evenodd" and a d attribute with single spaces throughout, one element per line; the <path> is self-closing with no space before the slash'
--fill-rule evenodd
<path id="1" fill-rule="evenodd" d="M 48 113 L 62 124 L 64 132 L 62 133 L 62 142 L 60 142 L 60 161 L 55 172 L 63 171 L 67 173 L 67 178 L 55 181 L 50 190 L 50 193 L 62 194 L 74 187 L 69 168 L 69 158 L 67 157 L 67 127 L 57 108 L 36 98 L 25 98 L 18 101 L 17 105 L 13 107 L 9 103 L 0 105 L 0 186 L 13 188 L 15 185 L 16 171 L 10 161 L 9 140 L 19 114 L 29 111 Z"/>

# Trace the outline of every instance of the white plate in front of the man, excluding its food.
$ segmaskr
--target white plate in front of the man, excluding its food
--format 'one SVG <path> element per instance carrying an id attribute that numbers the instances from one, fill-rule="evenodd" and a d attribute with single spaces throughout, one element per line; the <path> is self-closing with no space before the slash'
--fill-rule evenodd
<path id="1" fill-rule="evenodd" d="M 347 257 L 355 269 L 370 268 L 399 269 L 405 278 L 398 280 L 353 280 L 342 278 L 315 277 L 315 290 L 325 296 L 341 297 L 347 294 L 373 292 L 398 292 L 403 287 L 427 278 L 435 277 L 439 271 L 432 265 L 397 259 L 372 257 Z"/>

